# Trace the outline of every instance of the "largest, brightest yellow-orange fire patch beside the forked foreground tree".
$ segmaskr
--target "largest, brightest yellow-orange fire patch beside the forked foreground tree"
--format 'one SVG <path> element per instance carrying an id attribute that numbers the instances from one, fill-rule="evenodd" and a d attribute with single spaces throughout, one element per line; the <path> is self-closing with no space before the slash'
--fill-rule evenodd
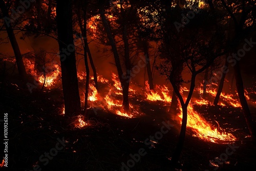
<path id="1" fill-rule="evenodd" d="M 182 109 L 180 108 L 182 111 Z M 182 121 L 182 113 L 179 114 L 180 122 Z M 205 141 L 218 142 L 221 141 L 236 141 L 230 133 L 224 131 L 218 131 L 217 128 L 212 129 L 212 126 L 201 117 L 196 111 L 194 111 L 191 104 L 187 108 L 187 126 L 194 129 L 195 134 L 193 136 L 199 137 Z M 221 130 L 221 128 L 219 128 Z"/>

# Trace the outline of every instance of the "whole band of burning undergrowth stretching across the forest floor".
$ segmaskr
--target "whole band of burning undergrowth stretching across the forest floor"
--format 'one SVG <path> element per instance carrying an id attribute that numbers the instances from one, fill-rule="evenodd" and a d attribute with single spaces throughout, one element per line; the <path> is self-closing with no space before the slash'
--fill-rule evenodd
<path id="1" fill-rule="evenodd" d="M 47 71 L 46 73 L 41 75 L 42 73 L 38 74 L 38 72 L 35 72 L 35 63 L 33 61 L 31 62 L 29 59 L 26 60 L 27 71 L 30 72 L 31 75 L 37 75 L 35 79 L 41 84 L 41 86 L 43 85 L 46 90 L 56 88 L 61 74 L 57 63 L 51 65 L 52 70 Z M 148 104 L 161 103 L 162 106 L 167 106 L 167 108 L 172 101 L 172 91 L 170 91 L 170 89 L 166 86 L 155 85 L 155 89 L 150 90 L 147 82 L 145 82 L 145 88 L 137 85 L 134 82 L 131 82 L 129 90 L 131 112 L 126 113 L 122 109 L 122 89 L 121 84 L 118 80 L 118 76 L 112 73 L 112 79 L 109 80 L 98 75 L 97 80 L 100 87 L 99 91 L 96 90 L 93 80 L 94 78 L 91 77 L 89 85 L 90 108 L 102 110 L 105 112 L 111 112 L 116 115 L 123 116 L 124 118 L 136 118 L 145 115 L 145 113 L 143 113 L 141 110 L 143 109 L 142 105 L 145 104 L 145 101 L 147 101 Z M 81 90 L 81 105 L 83 106 L 86 73 L 82 71 L 78 73 L 78 82 Z M 192 135 L 204 141 L 210 141 L 215 143 L 227 143 L 229 141 L 236 141 L 237 138 L 233 135 L 233 131 L 228 130 L 228 128 L 223 128 L 223 124 L 227 124 L 227 122 L 219 124 L 217 119 L 212 122 L 211 118 L 213 118 L 213 116 L 211 118 L 204 118 L 204 114 L 201 113 L 202 110 L 195 110 L 194 106 L 199 106 L 199 108 L 201 108 L 203 105 L 211 106 L 211 101 L 209 99 L 214 98 L 217 94 L 218 85 L 208 85 L 206 88 L 206 93 L 209 98 L 203 99 L 203 85 L 199 85 L 200 86 L 195 90 L 194 96 L 188 106 L 187 127 L 193 130 Z M 255 94 L 252 90 L 248 89 L 248 91 L 245 91 L 246 97 L 251 102 L 251 104 L 255 104 L 255 101 L 253 101 L 253 98 L 251 98 Z M 188 91 L 189 90 L 186 87 L 181 88 L 181 92 L 184 97 L 186 97 Z M 237 99 L 239 98 L 236 94 L 233 95 L 228 93 L 222 93 L 219 105 L 223 107 L 232 106 L 233 108 L 240 108 L 241 105 L 239 100 Z M 164 112 L 167 114 L 168 110 L 166 109 L 164 109 Z M 61 115 L 65 114 L 64 108 L 60 109 L 60 111 Z M 181 108 L 180 111 L 182 111 Z M 182 112 L 180 112 L 177 116 L 172 116 L 172 119 L 176 120 L 179 124 L 181 124 Z M 82 128 L 90 125 L 90 123 L 86 122 L 81 115 L 77 116 L 73 124 L 77 128 Z"/>

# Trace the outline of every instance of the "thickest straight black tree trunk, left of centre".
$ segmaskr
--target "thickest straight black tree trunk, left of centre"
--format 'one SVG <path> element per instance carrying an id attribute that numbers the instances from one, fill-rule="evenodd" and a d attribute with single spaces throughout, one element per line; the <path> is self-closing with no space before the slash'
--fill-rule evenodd
<path id="1" fill-rule="evenodd" d="M 81 113 L 81 102 L 72 28 L 72 0 L 57 0 L 56 19 L 65 115 L 74 116 Z"/>

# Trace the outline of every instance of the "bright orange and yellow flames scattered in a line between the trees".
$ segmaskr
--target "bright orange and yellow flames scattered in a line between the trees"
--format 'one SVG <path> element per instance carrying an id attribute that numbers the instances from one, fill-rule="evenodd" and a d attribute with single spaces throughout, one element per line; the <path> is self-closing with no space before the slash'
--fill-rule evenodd
<path id="1" fill-rule="evenodd" d="M 30 61 L 26 62 L 26 63 L 28 63 L 28 65 L 27 65 L 28 71 L 35 74 L 34 63 L 30 62 Z M 45 87 L 53 86 L 53 83 L 56 82 L 56 79 L 57 79 L 58 75 L 60 74 L 60 71 L 57 69 L 58 66 L 54 66 L 54 68 L 56 68 L 54 71 L 47 73 Z M 78 74 L 78 79 L 81 80 L 83 83 L 86 80 L 85 78 L 86 78 L 85 72 L 80 72 Z M 44 80 L 45 80 L 44 75 L 38 77 L 39 82 L 44 83 Z M 108 92 L 106 92 L 106 94 L 103 97 L 101 97 L 101 95 L 98 94 L 94 84 L 91 83 L 91 82 L 93 82 L 93 77 L 91 77 L 91 82 L 89 84 L 90 106 L 92 106 L 92 107 L 100 106 L 100 108 L 102 108 L 102 110 L 108 110 L 117 115 L 124 116 L 127 118 L 136 117 L 135 115 L 138 115 L 141 113 L 141 112 L 139 112 L 139 106 L 135 105 L 135 104 L 133 104 L 133 105 L 130 104 L 133 112 L 131 112 L 131 113 L 122 112 L 123 111 L 122 110 L 122 87 L 121 87 L 121 83 L 118 79 L 118 76 L 116 74 L 112 73 L 113 84 L 110 83 L 110 81 L 108 79 L 105 79 L 102 76 L 98 76 L 97 80 L 100 83 L 108 86 Z M 145 85 L 146 85 L 146 87 L 144 90 L 142 89 L 142 91 L 145 92 L 145 97 L 147 100 L 162 101 L 165 105 L 170 104 L 170 102 L 172 101 L 172 98 L 170 96 L 170 91 L 168 90 L 167 87 L 155 85 L 155 89 L 150 90 L 147 81 L 145 82 Z M 200 87 L 203 87 L 202 84 Z M 135 97 L 135 95 L 136 95 L 135 90 L 137 90 L 135 87 L 130 86 L 129 96 Z M 188 92 L 188 91 L 189 90 L 187 90 L 185 87 L 181 87 L 181 92 Z M 197 91 L 200 94 L 203 93 L 202 88 L 198 88 Z M 212 97 L 215 97 L 217 94 L 216 89 L 207 89 L 206 93 Z M 249 93 L 246 91 L 247 99 L 249 99 L 248 94 Z M 229 105 L 232 105 L 234 107 L 241 106 L 239 101 L 234 99 L 234 96 L 231 94 L 222 93 L 221 97 L 224 98 L 225 103 L 228 103 Z M 84 100 L 82 102 L 84 102 Z M 204 100 L 204 99 L 200 99 L 200 100 L 196 99 L 196 100 L 194 100 L 194 102 L 197 105 L 203 105 L 203 104 L 210 105 L 210 102 L 208 100 Z M 223 102 L 219 102 L 219 104 L 225 105 Z M 106 106 L 106 109 L 103 106 Z M 234 137 L 230 133 L 226 133 L 220 127 L 217 129 L 217 128 L 214 128 L 213 126 L 211 126 L 202 116 L 200 116 L 200 114 L 198 112 L 194 111 L 193 105 L 189 104 L 187 111 L 188 111 L 187 126 L 194 130 L 194 132 L 195 132 L 194 136 L 197 136 L 205 141 L 218 142 L 218 143 L 220 141 L 235 141 L 236 140 L 236 137 Z M 64 114 L 64 113 L 65 113 L 65 109 L 63 108 L 62 114 Z M 180 113 L 178 115 L 178 120 L 181 123 L 182 113 Z M 75 127 L 81 128 L 86 125 L 88 125 L 88 123 L 86 123 L 84 121 L 84 118 L 81 115 L 79 115 L 77 117 Z"/>

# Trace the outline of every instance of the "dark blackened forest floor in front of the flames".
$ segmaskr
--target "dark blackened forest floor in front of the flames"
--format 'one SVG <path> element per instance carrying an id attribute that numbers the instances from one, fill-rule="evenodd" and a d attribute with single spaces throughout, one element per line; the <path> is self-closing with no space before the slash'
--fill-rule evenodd
<path id="1" fill-rule="evenodd" d="M 130 170 L 170 170 L 180 124 L 169 120 L 174 124 L 169 132 L 153 145 L 144 143 L 161 130 L 163 121 L 168 121 L 164 109 L 168 106 L 163 108 L 161 102 L 142 102 L 141 111 L 145 115 L 131 119 L 89 109 L 89 126 L 67 129 L 66 118 L 60 115 L 63 107 L 61 90 L 30 94 L 18 84 L 8 80 L 0 82 L 0 111 L 2 116 L 8 113 L 9 123 L 9 163 L 3 170 L 122 170 L 122 162 L 127 165 L 127 161 L 130 161 Z M 192 136 L 188 129 L 180 170 L 254 170 L 256 145 L 245 138 L 248 131 L 241 109 L 210 105 L 195 109 L 204 113 L 205 118 L 216 116 L 220 125 L 232 125 L 238 141 L 230 142 L 236 148 L 232 154 L 225 155 L 228 144 L 203 141 Z M 254 118 L 255 113 L 256 110 L 252 109 Z M 63 148 L 59 141 L 62 141 Z M 54 148 L 61 149 L 54 154 Z M 136 158 L 133 164 L 131 155 L 141 152 L 141 148 L 143 156 L 137 157 L 139 159 Z M 49 159 L 46 157 L 48 153 Z M 227 159 L 220 161 L 225 156 Z M 209 160 L 215 159 L 222 163 L 219 167 L 209 165 Z"/>

